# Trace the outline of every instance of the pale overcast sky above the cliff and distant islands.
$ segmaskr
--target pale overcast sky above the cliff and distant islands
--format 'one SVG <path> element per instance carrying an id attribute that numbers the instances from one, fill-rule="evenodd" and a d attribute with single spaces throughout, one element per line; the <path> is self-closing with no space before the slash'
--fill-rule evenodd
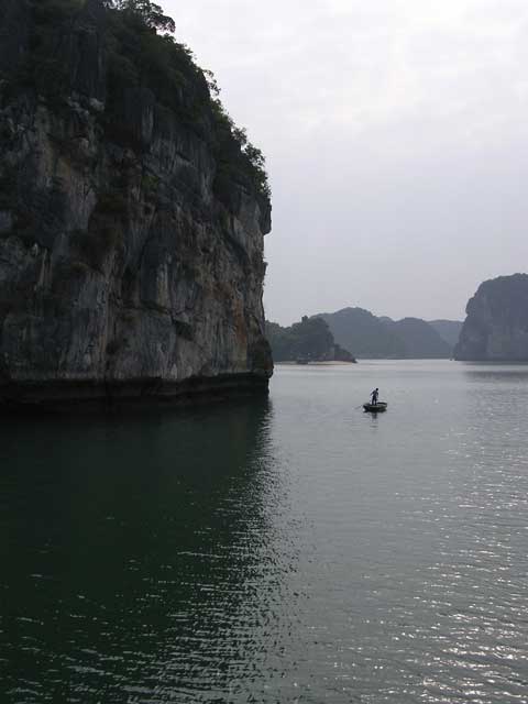
<path id="1" fill-rule="evenodd" d="M 165 0 L 266 156 L 266 317 L 463 319 L 528 271 L 526 0 Z"/>

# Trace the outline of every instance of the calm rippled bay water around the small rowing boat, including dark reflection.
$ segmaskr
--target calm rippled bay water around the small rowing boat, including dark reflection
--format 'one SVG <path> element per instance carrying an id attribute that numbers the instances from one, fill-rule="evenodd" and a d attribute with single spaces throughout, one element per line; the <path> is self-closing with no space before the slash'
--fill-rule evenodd
<path id="1" fill-rule="evenodd" d="M 527 429 L 454 362 L 3 421 L 0 702 L 528 702 Z"/>

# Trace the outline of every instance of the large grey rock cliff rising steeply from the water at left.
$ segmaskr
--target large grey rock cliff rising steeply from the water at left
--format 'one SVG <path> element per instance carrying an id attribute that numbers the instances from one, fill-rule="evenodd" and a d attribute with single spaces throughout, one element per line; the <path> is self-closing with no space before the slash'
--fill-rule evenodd
<path id="1" fill-rule="evenodd" d="M 266 388 L 270 200 L 188 52 L 101 0 L 0 28 L 0 403 Z"/>

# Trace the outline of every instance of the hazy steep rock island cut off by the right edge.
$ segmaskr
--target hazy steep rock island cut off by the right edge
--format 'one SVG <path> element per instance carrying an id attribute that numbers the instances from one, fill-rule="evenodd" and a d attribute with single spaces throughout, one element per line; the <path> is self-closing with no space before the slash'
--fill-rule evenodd
<path id="1" fill-rule="evenodd" d="M 528 275 L 484 282 L 470 299 L 457 360 L 528 360 Z"/>

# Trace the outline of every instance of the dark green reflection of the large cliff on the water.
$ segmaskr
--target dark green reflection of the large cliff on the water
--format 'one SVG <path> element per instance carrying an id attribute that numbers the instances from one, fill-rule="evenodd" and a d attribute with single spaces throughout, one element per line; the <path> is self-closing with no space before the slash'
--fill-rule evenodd
<path id="1" fill-rule="evenodd" d="M 196 701 L 232 689 L 241 658 L 257 667 L 287 628 L 292 568 L 272 544 L 287 525 L 272 413 L 260 399 L 2 429 L 8 701 Z"/>

